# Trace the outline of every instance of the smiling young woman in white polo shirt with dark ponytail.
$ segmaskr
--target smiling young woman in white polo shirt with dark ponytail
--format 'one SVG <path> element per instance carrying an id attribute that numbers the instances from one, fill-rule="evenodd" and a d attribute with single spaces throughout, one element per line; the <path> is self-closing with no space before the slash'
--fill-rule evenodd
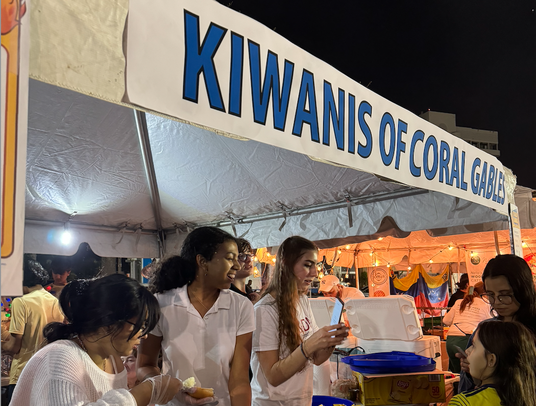
<path id="1" fill-rule="evenodd" d="M 215 227 L 193 230 L 181 255 L 164 260 L 151 288 L 161 310 L 160 321 L 138 350 L 138 378 L 163 370 L 174 377 L 194 377 L 213 388 L 219 406 L 249 406 L 249 360 L 255 329 L 250 300 L 229 290 L 240 270 L 236 240 Z M 209 398 L 212 400 L 212 398 Z M 183 405 L 189 397 L 168 405 Z"/>

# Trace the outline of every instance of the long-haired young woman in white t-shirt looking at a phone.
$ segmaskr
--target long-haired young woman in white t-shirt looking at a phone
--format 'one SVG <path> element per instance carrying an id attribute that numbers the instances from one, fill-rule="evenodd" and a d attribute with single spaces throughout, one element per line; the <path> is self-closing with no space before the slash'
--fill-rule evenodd
<path id="1" fill-rule="evenodd" d="M 324 363 L 348 335 L 344 324 L 318 329 L 312 315 L 306 293 L 317 256 L 316 245 L 303 237 L 279 247 L 270 283 L 255 304 L 252 405 L 310 406 L 311 364 Z"/>

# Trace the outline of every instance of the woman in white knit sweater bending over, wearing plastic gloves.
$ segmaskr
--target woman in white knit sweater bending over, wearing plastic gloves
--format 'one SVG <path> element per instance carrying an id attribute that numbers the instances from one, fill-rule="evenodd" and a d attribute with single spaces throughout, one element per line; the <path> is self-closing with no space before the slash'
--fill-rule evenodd
<path id="1" fill-rule="evenodd" d="M 157 300 L 137 281 L 121 274 L 73 281 L 59 304 L 69 323 L 44 328 L 47 345 L 26 364 L 11 404 L 146 406 L 180 392 L 179 379 L 160 374 L 128 390 L 121 357 L 160 317 Z"/>

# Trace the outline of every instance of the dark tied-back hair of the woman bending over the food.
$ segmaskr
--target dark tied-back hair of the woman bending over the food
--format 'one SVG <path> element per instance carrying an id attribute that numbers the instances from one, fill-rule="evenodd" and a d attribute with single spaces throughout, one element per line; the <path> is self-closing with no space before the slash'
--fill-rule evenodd
<path id="1" fill-rule="evenodd" d="M 68 340 L 77 334 L 92 334 L 101 328 L 116 335 L 126 321 L 136 318 L 130 340 L 140 329 L 142 335 L 150 332 L 160 318 L 157 298 L 138 281 L 123 274 L 72 281 L 59 295 L 59 305 L 69 324 L 48 324 L 43 330 L 48 343 Z"/>

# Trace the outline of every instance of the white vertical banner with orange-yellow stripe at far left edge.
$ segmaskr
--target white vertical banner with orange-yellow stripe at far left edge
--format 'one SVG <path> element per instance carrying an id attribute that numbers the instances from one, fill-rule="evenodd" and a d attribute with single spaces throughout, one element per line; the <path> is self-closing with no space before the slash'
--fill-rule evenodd
<path id="1" fill-rule="evenodd" d="M 2 2 L 2 295 L 23 294 L 28 1 Z"/>

